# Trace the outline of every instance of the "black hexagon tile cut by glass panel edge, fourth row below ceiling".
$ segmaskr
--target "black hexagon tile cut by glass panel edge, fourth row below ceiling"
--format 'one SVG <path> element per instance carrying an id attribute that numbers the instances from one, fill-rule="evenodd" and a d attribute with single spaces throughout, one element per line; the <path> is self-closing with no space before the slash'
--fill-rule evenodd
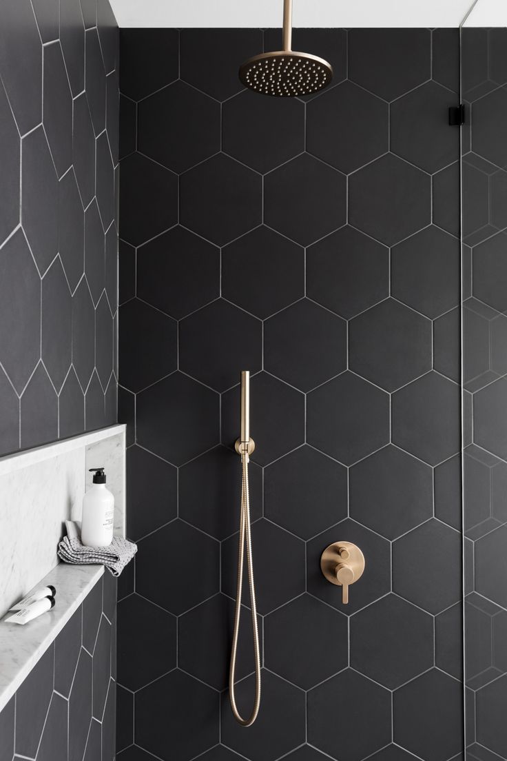
<path id="1" fill-rule="evenodd" d="M 459 304 L 459 241 L 433 225 L 392 251 L 391 294 L 434 319 Z"/>

